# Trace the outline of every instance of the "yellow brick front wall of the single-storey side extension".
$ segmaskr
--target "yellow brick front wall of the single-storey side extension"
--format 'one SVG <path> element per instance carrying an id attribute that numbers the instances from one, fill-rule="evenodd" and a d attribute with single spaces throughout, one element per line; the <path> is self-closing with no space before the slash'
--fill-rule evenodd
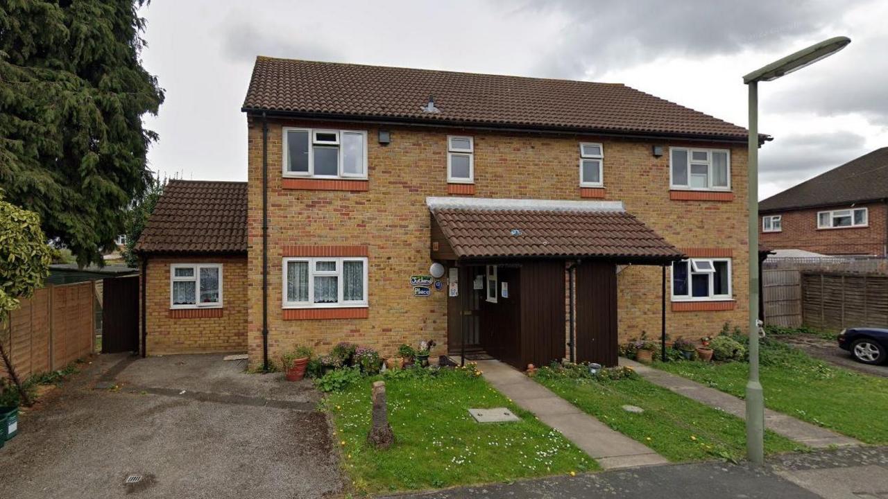
<path id="1" fill-rule="evenodd" d="M 170 264 L 222 264 L 222 317 L 170 317 Z M 149 257 L 147 354 L 247 351 L 247 257 Z"/>

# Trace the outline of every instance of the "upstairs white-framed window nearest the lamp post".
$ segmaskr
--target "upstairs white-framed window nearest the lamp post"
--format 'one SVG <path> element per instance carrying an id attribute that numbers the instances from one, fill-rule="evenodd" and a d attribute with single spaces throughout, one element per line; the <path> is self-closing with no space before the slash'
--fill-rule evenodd
<path id="1" fill-rule="evenodd" d="M 670 147 L 670 188 L 730 190 L 730 151 Z"/>

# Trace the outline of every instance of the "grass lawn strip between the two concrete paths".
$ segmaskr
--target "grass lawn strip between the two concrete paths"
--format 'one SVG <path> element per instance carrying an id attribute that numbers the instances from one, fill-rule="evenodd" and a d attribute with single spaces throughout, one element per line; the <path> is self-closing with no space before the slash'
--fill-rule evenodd
<path id="1" fill-rule="evenodd" d="M 602 423 L 653 448 L 670 461 L 713 457 L 739 460 L 746 453 L 746 426 L 740 418 L 644 379 L 536 379 Z M 624 405 L 638 406 L 645 412 L 626 412 Z M 804 448 L 776 433 L 765 434 L 766 454 Z"/>

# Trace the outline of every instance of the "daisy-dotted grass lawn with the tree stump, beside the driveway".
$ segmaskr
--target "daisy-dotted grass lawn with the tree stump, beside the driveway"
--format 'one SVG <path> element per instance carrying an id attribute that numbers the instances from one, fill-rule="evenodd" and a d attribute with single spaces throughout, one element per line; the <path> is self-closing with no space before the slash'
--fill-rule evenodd
<path id="1" fill-rule="evenodd" d="M 323 407 L 333 416 L 343 465 L 361 493 L 451 487 L 599 469 L 570 441 L 519 409 L 474 369 L 441 369 L 437 376 L 386 376 L 389 422 L 396 442 L 366 443 L 370 384 L 364 379 L 332 392 Z M 477 424 L 468 408 L 506 407 L 517 423 Z"/>

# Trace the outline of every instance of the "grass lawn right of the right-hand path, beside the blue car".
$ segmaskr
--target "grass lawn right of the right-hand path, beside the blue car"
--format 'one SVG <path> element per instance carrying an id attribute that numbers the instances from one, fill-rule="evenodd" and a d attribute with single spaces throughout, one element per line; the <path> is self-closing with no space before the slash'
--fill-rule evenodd
<path id="1" fill-rule="evenodd" d="M 744 397 L 749 364 L 674 362 L 656 368 Z M 775 340 L 761 344 L 765 406 L 869 444 L 888 444 L 888 379 L 838 368 Z"/>

